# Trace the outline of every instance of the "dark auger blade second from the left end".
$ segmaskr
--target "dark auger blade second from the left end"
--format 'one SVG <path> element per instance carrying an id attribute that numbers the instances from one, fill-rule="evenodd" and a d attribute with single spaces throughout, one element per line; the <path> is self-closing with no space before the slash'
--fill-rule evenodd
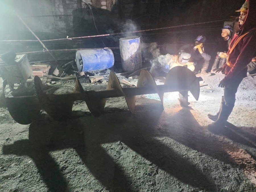
<path id="1" fill-rule="evenodd" d="M 42 90 L 42 81 L 38 76 L 34 77 L 34 84 L 38 99 L 48 115 L 56 121 L 63 121 L 70 118 L 74 101 L 68 95 L 51 95 L 48 97 Z"/>

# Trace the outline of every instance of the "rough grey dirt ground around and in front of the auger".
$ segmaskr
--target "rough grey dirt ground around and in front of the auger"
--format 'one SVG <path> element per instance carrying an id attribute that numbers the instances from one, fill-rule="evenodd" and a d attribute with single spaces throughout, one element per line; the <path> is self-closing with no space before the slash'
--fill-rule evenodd
<path id="1" fill-rule="evenodd" d="M 256 77 L 240 84 L 227 127 L 208 130 L 223 77 L 203 77 L 188 108 L 177 92 L 165 93 L 164 111 L 156 94 L 137 96 L 134 115 L 123 97 L 107 99 L 100 117 L 77 101 L 73 118 L 42 112 L 30 125 L 0 108 L 0 191 L 256 191 Z"/>

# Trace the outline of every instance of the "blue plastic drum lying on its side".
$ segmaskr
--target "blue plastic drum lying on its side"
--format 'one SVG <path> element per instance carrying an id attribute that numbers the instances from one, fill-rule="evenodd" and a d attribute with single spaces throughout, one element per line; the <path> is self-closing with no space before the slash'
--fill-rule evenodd
<path id="1" fill-rule="evenodd" d="M 76 51 L 76 63 L 80 72 L 109 69 L 114 65 L 111 49 L 84 49 Z"/>

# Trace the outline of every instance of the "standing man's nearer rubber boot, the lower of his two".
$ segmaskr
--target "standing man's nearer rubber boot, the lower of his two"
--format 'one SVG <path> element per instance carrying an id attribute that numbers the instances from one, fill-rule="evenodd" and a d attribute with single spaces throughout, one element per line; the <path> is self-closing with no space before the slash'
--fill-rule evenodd
<path id="1" fill-rule="evenodd" d="M 208 125 L 208 129 L 218 129 L 218 128 L 225 127 L 225 124 L 232 110 L 233 110 L 233 106 L 226 106 L 225 101 L 223 101 L 221 104 L 220 114 L 218 116 L 218 119 L 215 122 L 210 123 Z"/>

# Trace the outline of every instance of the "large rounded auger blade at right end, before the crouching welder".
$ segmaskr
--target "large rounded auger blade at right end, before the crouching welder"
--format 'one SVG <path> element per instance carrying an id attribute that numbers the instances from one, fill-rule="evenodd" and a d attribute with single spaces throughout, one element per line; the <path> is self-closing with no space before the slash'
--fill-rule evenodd
<path id="1" fill-rule="evenodd" d="M 178 89 L 189 90 L 196 100 L 199 98 L 200 85 L 195 74 L 186 67 L 172 68 L 166 76 L 165 85 L 174 84 Z"/>

